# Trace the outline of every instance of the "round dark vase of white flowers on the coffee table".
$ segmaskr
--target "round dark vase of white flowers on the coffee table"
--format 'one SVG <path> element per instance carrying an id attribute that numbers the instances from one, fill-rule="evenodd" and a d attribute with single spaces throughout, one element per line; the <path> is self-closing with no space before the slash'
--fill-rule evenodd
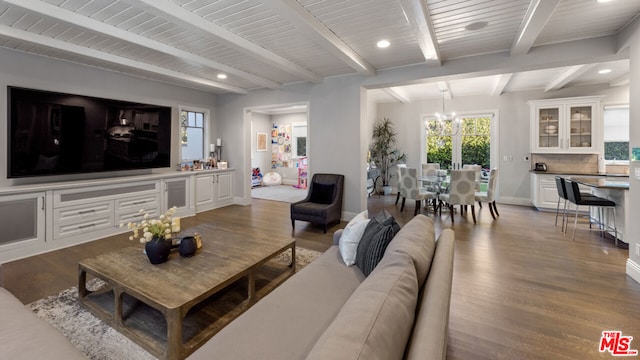
<path id="1" fill-rule="evenodd" d="M 127 224 L 127 228 L 132 232 L 129 240 L 139 239 L 145 244 L 145 253 L 154 265 L 167 261 L 171 252 L 171 239 L 180 232 L 180 218 L 173 216 L 176 209 L 175 206 L 170 208 L 158 219 L 151 219 L 149 214 L 140 209 L 139 213 L 143 214 L 142 221 Z M 124 227 L 124 224 L 120 224 L 120 227 Z"/>

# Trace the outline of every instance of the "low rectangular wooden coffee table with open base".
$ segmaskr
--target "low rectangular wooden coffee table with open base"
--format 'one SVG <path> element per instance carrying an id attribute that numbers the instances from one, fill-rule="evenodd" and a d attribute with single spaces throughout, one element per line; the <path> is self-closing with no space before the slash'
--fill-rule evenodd
<path id="1" fill-rule="evenodd" d="M 193 257 L 164 264 L 142 245 L 80 261 L 80 304 L 154 356 L 185 358 L 295 272 L 294 239 L 211 234 Z M 270 261 L 288 249 L 291 264 Z M 107 286 L 87 289 L 87 274 Z"/>

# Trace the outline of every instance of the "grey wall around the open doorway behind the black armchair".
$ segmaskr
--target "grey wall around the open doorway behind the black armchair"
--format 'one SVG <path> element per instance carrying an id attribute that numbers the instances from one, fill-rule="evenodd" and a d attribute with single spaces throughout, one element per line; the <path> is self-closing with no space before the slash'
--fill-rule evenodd
<path id="1" fill-rule="evenodd" d="M 250 141 L 250 124 L 246 109 L 272 104 L 308 103 L 309 174 L 337 173 L 345 175 L 344 212 L 362 209 L 365 189 L 365 155 L 361 141 L 361 78 L 345 76 L 326 79 L 320 84 L 300 83 L 279 90 L 256 90 L 246 95 L 224 94 L 218 97 L 216 109 L 220 131 L 225 138 L 244 139 L 229 146 L 229 161 L 236 175 L 247 178 L 250 159 L 245 156 Z M 243 121 L 243 119 L 245 119 Z M 242 163 L 247 166 L 242 166 Z M 249 203 L 248 181 L 236 183 L 234 195 L 239 203 Z"/>

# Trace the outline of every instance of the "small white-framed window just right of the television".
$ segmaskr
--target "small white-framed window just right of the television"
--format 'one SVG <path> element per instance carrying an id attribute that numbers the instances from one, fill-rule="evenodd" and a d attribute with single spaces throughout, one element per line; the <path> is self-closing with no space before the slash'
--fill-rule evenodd
<path id="1" fill-rule="evenodd" d="M 182 161 L 202 160 L 204 156 L 204 112 L 180 111 L 180 144 Z"/>

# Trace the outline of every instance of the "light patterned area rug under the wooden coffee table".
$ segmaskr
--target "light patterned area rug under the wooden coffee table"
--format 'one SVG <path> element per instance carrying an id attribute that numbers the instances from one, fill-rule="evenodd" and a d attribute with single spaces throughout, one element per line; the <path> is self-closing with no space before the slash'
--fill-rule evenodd
<path id="1" fill-rule="evenodd" d="M 319 252 L 296 248 L 296 269 L 299 271 L 320 255 Z M 291 251 L 275 259 L 282 264 L 291 263 Z M 97 290 L 104 286 L 92 279 L 87 287 Z M 95 317 L 78 303 L 78 288 L 71 287 L 57 295 L 28 304 L 35 314 L 58 329 L 89 359 L 94 360 L 147 360 L 155 359 L 146 350 Z"/>

